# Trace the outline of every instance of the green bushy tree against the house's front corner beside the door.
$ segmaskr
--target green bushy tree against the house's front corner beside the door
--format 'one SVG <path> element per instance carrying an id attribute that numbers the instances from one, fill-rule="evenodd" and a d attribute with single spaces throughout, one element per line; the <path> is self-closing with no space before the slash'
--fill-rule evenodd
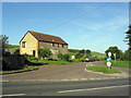
<path id="1" fill-rule="evenodd" d="M 38 49 L 38 54 L 41 58 L 49 58 L 52 53 L 48 48 L 46 48 L 46 49 Z"/>

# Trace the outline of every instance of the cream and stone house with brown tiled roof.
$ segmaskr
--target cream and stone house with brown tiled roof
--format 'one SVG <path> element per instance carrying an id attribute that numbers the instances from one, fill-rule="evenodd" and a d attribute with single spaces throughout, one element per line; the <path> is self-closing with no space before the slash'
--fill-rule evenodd
<path id="1" fill-rule="evenodd" d="M 20 40 L 20 54 L 32 54 L 38 58 L 39 48 L 50 49 L 52 59 L 57 59 L 58 53 L 68 53 L 68 44 L 57 36 L 28 30 Z"/>

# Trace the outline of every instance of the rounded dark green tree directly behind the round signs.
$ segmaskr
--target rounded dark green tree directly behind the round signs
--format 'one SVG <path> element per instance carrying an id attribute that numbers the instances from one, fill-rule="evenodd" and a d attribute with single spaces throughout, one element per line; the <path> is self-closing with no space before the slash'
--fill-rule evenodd
<path id="1" fill-rule="evenodd" d="M 115 59 L 114 53 L 116 53 L 116 59 L 120 59 L 122 56 L 122 51 L 118 49 L 118 47 L 109 47 L 105 53 L 108 56 L 108 52 L 111 52 L 111 59 Z"/>

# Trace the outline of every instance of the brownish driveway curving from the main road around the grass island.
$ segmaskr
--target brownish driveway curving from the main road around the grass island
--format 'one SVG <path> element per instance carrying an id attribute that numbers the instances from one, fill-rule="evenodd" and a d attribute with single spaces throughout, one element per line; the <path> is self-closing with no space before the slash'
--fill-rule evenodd
<path id="1" fill-rule="evenodd" d="M 52 81 L 52 79 L 85 79 L 85 78 L 107 78 L 123 77 L 129 75 L 128 69 L 116 68 L 122 71 L 120 74 L 102 74 L 86 71 L 87 65 L 104 65 L 100 61 L 79 62 L 64 65 L 44 66 L 36 71 L 3 75 L 3 81 Z"/>

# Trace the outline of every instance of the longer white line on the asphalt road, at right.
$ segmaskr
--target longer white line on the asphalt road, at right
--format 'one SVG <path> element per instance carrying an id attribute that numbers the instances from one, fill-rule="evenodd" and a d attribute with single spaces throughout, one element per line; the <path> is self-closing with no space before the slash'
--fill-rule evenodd
<path id="1" fill-rule="evenodd" d="M 129 87 L 129 86 L 131 86 L 131 85 L 108 86 L 108 87 L 86 88 L 86 89 L 71 89 L 71 90 L 61 90 L 61 91 L 58 91 L 58 93 L 74 93 L 74 91 L 97 90 L 97 89 L 107 89 L 107 88 L 117 88 L 117 87 Z"/>

